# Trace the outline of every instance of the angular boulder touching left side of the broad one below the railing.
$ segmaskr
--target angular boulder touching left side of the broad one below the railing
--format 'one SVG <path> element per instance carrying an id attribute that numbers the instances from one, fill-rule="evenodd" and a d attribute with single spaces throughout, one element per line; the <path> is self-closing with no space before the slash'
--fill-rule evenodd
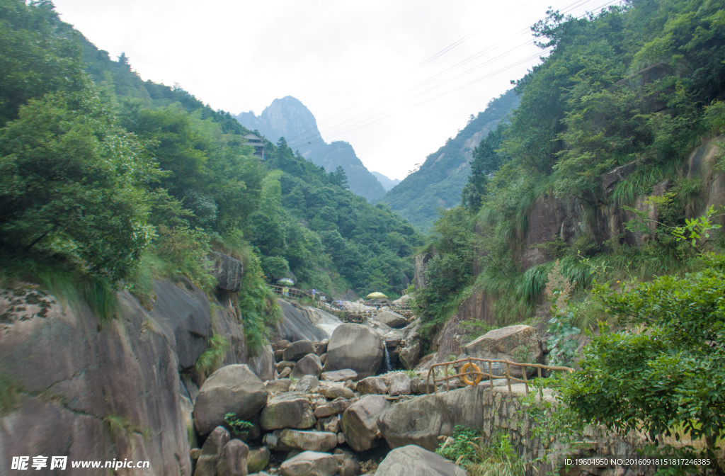
<path id="1" fill-rule="evenodd" d="M 368 395 L 353 403 L 342 414 L 345 441 L 355 451 L 365 451 L 377 445 L 378 417 L 390 408 L 381 395 Z"/>

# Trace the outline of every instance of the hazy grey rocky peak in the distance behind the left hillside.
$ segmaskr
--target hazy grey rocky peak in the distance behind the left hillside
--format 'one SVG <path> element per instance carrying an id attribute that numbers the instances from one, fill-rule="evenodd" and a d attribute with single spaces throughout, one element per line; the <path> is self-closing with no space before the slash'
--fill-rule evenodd
<path id="1" fill-rule="evenodd" d="M 386 192 L 376 176 L 355 155 L 352 145 L 345 141 L 328 144 L 323 140 L 315 116 L 299 99 L 291 96 L 275 99 L 262 114 L 241 112 L 236 115 L 236 120 L 249 130 L 256 129 L 271 142 L 276 143 L 284 137 L 292 150 L 321 165 L 328 173 L 341 166 L 347 174 L 350 192 L 368 201 L 376 200 Z"/>

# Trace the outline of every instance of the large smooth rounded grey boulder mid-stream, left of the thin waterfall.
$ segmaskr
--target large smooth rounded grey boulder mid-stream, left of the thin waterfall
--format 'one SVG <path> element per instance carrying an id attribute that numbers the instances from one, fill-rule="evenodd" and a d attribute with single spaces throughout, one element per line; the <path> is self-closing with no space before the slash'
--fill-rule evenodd
<path id="1" fill-rule="evenodd" d="M 336 327 L 327 345 L 325 372 L 352 369 L 357 377 L 374 375 L 383 361 L 380 337 L 360 324 Z"/>

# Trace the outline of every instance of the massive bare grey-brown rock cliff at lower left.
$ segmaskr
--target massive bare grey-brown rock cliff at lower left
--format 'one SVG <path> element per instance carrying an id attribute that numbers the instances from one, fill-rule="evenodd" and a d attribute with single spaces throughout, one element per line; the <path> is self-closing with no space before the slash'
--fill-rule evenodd
<path id="1" fill-rule="evenodd" d="M 191 474 L 196 385 L 180 375 L 212 332 L 232 343 L 225 363 L 248 361 L 244 328 L 224 300 L 212 319 L 191 284 L 156 282 L 154 292 L 149 309 L 120 293 L 115 317 L 99 321 L 86 305 L 33 286 L 1 291 L 0 393 L 20 388 L 20 401 L 0 417 L 1 474 L 12 456 L 36 455 L 148 460 L 133 475 Z"/>

